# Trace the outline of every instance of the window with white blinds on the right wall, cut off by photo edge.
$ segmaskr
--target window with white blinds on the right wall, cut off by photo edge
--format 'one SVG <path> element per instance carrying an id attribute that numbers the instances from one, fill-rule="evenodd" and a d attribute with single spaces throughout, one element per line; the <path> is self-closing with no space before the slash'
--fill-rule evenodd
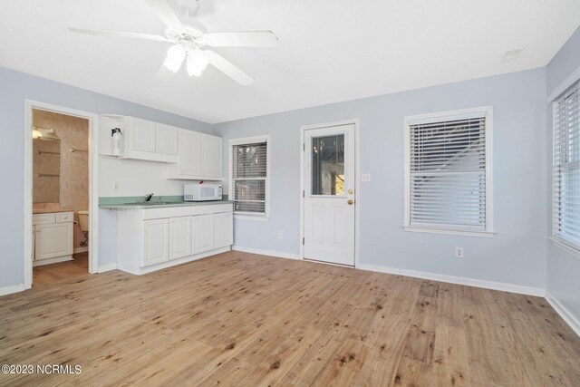
<path id="1" fill-rule="evenodd" d="M 552 171 L 554 239 L 580 250 L 580 82 L 553 102 Z"/>

